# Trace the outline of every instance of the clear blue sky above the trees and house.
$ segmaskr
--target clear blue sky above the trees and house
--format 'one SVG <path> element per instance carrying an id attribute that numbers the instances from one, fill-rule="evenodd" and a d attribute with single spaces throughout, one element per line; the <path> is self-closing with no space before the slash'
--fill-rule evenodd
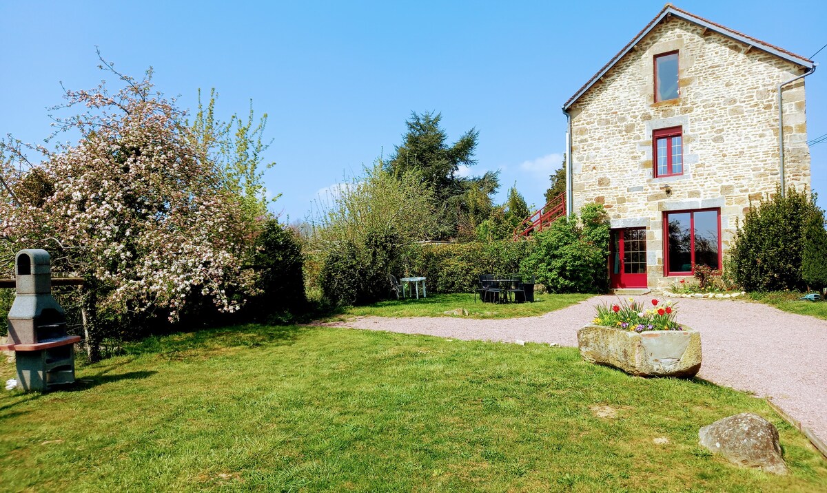
<path id="1" fill-rule="evenodd" d="M 810 56 L 827 44 L 827 2 L 676 2 L 677 7 Z M 543 205 L 564 147 L 562 103 L 650 21 L 663 2 L 0 2 L 0 135 L 39 142 L 60 82 L 117 69 L 182 107 L 216 88 L 223 116 L 253 100 L 270 116 L 266 186 L 282 219 L 401 141 L 411 111 L 440 111 L 449 138 L 476 127 L 472 169 L 500 169 Z M 827 49 L 815 57 L 827 61 Z M 806 79 L 808 138 L 827 134 L 827 64 Z M 827 142 L 812 149 L 827 206 Z"/>

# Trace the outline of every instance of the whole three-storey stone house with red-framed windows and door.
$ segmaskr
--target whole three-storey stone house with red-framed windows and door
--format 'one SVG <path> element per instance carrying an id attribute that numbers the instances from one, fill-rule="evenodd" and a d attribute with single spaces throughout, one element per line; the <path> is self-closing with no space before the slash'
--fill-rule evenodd
<path id="1" fill-rule="evenodd" d="M 604 204 L 612 287 L 669 287 L 697 265 L 721 268 L 750 201 L 810 190 L 813 71 L 667 4 L 566 101 L 566 210 Z"/>

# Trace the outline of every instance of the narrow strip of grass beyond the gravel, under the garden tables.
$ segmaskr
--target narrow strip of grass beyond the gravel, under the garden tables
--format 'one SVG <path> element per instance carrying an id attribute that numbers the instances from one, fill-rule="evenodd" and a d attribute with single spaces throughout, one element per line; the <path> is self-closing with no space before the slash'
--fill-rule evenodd
<path id="1" fill-rule="evenodd" d="M 380 301 L 368 306 L 348 306 L 333 319 L 352 316 L 455 316 L 475 319 L 511 319 L 523 316 L 543 315 L 574 305 L 594 295 L 537 295 L 533 303 L 483 303 L 473 294 L 432 295 L 427 298 L 405 298 L 404 300 Z M 447 315 L 445 312 L 465 309 L 468 315 Z M 464 312 L 463 312 L 464 313 Z"/>

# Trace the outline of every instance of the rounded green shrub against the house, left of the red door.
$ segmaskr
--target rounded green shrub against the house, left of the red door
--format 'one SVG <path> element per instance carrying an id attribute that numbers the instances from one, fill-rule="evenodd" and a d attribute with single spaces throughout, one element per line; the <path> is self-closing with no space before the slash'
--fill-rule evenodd
<path id="1" fill-rule="evenodd" d="M 535 248 L 522 270 L 533 273 L 549 292 L 606 292 L 609 275 L 609 224 L 603 206 L 590 204 L 534 235 Z"/>

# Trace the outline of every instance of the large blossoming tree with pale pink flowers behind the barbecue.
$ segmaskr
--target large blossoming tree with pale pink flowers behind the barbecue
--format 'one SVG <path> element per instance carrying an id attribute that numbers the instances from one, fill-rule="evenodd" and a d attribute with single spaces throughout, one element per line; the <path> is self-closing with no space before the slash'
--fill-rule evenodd
<path id="1" fill-rule="evenodd" d="M 60 108 L 83 110 L 55 120 L 76 144 L 31 146 L 42 156 L 31 164 L 19 142 L 4 143 L 2 254 L 48 250 L 55 270 L 86 278 L 94 320 L 175 320 L 197 295 L 237 310 L 227 293 L 249 293 L 253 281 L 240 267 L 251 231 L 239 197 L 194 147 L 184 112 L 154 92 L 151 71 L 138 80 L 102 68 L 124 87 L 67 90 Z"/>

